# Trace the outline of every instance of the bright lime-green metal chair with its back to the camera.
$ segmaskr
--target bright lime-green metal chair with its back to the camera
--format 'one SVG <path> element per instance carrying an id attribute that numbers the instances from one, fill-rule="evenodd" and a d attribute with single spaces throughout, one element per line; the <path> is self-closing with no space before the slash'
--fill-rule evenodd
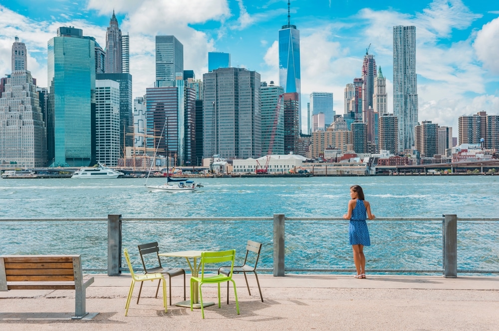
<path id="1" fill-rule="evenodd" d="M 236 298 L 236 308 L 239 315 L 239 301 L 238 301 L 238 293 L 236 290 L 236 283 L 232 279 L 232 271 L 234 269 L 234 260 L 236 259 L 236 250 L 229 251 L 220 251 L 220 252 L 203 252 L 201 254 L 201 277 L 191 277 L 191 311 L 193 305 L 194 298 L 194 286 L 196 286 L 196 282 L 199 282 L 199 298 L 201 303 L 201 315 L 203 319 L 205 318 L 205 310 L 203 308 L 203 294 L 201 292 L 201 286 L 203 284 L 217 284 L 218 286 L 218 299 L 219 299 L 219 308 L 220 304 L 220 283 L 232 282 L 234 285 L 234 296 Z M 231 263 L 231 270 L 229 275 L 224 274 L 205 274 L 205 266 L 210 264 L 221 264 L 221 263 Z"/>

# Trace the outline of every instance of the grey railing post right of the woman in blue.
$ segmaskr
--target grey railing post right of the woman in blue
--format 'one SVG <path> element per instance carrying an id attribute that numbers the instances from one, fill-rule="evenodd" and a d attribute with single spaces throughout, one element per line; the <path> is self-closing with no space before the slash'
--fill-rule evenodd
<path id="1" fill-rule="evenodd" d="M 457 215 L 444 215 L 444 277 L 458 277 Z"/>

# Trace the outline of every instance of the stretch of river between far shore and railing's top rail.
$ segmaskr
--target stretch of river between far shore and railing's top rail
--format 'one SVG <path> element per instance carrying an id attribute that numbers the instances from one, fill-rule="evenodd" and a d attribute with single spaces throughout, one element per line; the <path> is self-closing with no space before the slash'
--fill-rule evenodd
<path id="1" fill-rule="evenodd" d="M 151 178 L 148 184 L 162 184 Z M 293 217 L 345 213 L 349 186 L 364 188 L 383 217 L 492 217 L 499 176 L 210 178 L 198 192 L 154 192 L 144 179 L 2 179 L 0 218 Z"/>

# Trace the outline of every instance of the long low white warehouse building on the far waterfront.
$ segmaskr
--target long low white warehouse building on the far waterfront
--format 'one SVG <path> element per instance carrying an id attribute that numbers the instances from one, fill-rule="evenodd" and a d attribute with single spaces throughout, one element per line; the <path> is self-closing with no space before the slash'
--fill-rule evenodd
<path id="1" fill-rule="evenodd" d="M 269 174 L 286 173 L 289 170 L 301 167 L 306 159 L 306 157 L 301 155 L 286 154 L 262 156 L 258 159 L 249 158 L 245 160 L 233 160 L 233 172 L 236 174 L 255 173 L 256 168 L 264 169 L 266 165 Z"/>

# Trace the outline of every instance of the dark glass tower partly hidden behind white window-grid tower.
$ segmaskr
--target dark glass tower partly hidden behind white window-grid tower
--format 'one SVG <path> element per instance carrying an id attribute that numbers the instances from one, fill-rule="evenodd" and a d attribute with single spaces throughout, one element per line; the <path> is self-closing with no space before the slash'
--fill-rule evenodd
<path id="1" fill-rule="evenodd" d="M 97 80 L 114 80 L 120 84 L 120 154 L 125 147 L 133 146 L 132 75 L 129 73 L 98 73 Z"/>

